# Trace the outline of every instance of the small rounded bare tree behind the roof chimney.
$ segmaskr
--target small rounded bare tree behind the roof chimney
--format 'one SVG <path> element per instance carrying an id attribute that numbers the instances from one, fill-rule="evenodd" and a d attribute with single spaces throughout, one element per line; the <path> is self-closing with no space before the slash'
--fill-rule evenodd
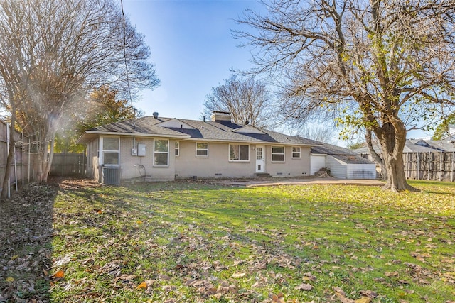
<path id="1" fill-rule="evenodd" d="M 274 121 L 271 97 L 267 86 L 255 78 L 239 79 L 232 75 L 223 84 L 213 87 L 205 97 L 204 114 L 229 111 L 234 123 L 248 121 L 254 126 L 270 126 Z"/>

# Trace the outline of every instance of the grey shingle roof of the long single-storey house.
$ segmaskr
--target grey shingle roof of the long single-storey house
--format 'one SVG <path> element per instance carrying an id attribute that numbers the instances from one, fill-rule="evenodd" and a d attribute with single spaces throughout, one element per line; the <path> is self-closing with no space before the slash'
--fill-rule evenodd
<path id="1" fill-rule="evenodd" d="M 230 141 L 230 142 L 245 142 L 245 143 L 280 143 L 280 144 L 298 144 L 315 146 L 320 145 L 320 142 L 301 138 L 297 136 L 289 136 L 284 133 L 277 133 L 267 129 L 258 128 L 262 133 L 240 133 L 235 132 L 236 129 L 242 128 L 236 123 L 230 121 L 197 121 L 178 119 L 183 123 L 188 124 L 189 128 L 164 127 L 157 124 L 172 120 L 173 118 L 144 116 L 136 121 L 127 120 L 116 123 L 98 126 L 90 129 L 88 133 L 122 133 L 132 135 L 156 135 L 169 136 L 175 138 L 193 138 L 207 141 Z M 84 142 L 84 135 L 80 138 L 80 142 Z"/>

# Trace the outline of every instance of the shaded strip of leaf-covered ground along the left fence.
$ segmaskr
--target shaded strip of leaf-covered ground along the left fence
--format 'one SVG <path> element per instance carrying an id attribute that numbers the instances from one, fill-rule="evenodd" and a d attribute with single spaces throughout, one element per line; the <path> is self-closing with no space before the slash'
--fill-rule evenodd
<path id="1" fill-rule="evenodd" d="M 48 300 L 55 187 L 29 184 L 0 207 L 0 301 Z"/>

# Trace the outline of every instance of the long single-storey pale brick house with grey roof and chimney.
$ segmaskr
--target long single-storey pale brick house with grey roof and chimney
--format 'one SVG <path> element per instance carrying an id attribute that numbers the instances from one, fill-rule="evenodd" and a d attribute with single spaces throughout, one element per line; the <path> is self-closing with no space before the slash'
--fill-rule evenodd
<path id="1" fill-rule="evenodd" d="M 78 140 L 87 150 L 87 175 L 105 184 L 144 177 L 309 176 L 309 139 L 231 122 L 217 111 L 210 121 L 144 116 L 92 128 Z"/>

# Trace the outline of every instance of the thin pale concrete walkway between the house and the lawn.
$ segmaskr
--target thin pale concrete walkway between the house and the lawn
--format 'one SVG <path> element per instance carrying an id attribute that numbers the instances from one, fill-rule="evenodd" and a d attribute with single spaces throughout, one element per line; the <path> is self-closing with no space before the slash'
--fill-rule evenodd
<path id="1" fill-rule="evenodd" d="M 220 183 L 226 185 L 240 186 L 240 187 L 259 187 L 259 186 L 277 186 L 277 185 L 305 185 L 305 184 L 342 184 L 342 185 L 360 185 L 360 186 L 384 186 L 384 182 L 380 180 L 345 180 L 337 179 L 334 177 L 318 178 L 318 177 L 304 177 L 304 178 L 282 178 L 270 177 L 259 179 L 240 179 L 240 180 L 223 180 Z"/>

